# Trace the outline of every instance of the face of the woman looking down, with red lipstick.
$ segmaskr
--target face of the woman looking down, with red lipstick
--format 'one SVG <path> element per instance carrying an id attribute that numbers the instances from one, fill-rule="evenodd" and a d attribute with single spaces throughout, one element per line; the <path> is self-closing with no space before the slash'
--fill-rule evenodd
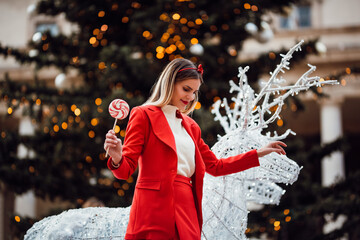
<path id="1" fill-rule="evenodd" d="M 184 111 L 186 106 L 195 99 L 195 94 L 199 91 L 200 85 L 199 79 L 187 79 L 176 82 L 170 104 Z"/>

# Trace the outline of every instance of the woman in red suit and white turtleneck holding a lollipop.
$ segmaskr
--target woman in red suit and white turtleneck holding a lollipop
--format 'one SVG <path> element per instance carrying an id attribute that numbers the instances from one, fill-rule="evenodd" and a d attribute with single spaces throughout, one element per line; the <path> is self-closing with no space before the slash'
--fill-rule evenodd
<path id="1" fill-rule="evenodd" d="M 138 180 L 125 239 L 200 239 L 205 171 L 221 176 L 259 166 L 259 157 L 285 154 L 283 142 L 217 159 L 187 115 L 194 110 L 202 79 L 186 59 L 171 61 L 150 98 L 132 109 L 124 145 L 110 130 L 108 167 L 127 179 L 139 165 Z M 280 146 L 281 145 L 281 146 Z"/>

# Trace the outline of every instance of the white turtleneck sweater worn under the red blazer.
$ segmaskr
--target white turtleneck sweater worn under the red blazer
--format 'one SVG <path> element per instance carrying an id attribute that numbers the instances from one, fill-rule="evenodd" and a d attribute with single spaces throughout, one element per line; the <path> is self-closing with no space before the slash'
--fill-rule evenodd
<path id="1" fill-rule="evenodd" d="M 177 174 L 191 177 L 195 172 L 195 144 L 182 126 L 181 118 L 176 117 L 177 107 L 166 105 L 161 108 L 175 138 L 178 156 Z"/>

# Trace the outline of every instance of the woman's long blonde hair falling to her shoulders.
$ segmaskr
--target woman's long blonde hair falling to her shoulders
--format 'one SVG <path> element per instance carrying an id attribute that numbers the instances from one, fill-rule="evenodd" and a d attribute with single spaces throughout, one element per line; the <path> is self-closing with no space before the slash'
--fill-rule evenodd
<path id="1" fill-rule="evenodd" d="M 179 70 L 185 68 L 187 69 L 179 72 Z M 149 99 L 143 105 L 163 107 L 169 104 L 174 93 L 175 83 L 177 82 L 188 79 L 199 79 L 200 82 L 203 83 L 202 75 L 196 69 L 197 68 L 190 60 L 183 58 L 176 58 L 172 60 L 161 72 L 159 79 L 151 89 Z M 183 113 L 191 113 L 194 110 L 197 101 L 198 93 L 196 92 L 194 100 L 189 103 Z"/>

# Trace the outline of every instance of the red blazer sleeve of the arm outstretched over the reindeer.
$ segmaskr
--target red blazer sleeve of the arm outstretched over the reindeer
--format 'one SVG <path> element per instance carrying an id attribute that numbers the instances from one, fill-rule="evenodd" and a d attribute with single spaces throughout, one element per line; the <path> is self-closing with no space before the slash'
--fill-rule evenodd
<path id="1" fill-rule="evenodd" d="M 233 157 L 218 159 L 201 138 L 200 127 L 196 124 L 197 144 L 205 164 L 205 170 L 213 176 L 223 176 L 260 166 L 257 151 L 251 150 Z"/>

